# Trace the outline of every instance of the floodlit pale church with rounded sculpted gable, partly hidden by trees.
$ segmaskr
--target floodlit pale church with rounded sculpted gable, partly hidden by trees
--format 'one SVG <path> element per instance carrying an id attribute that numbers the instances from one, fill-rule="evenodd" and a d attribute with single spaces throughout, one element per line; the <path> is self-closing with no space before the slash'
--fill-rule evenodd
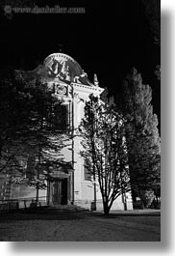
<path id="1" fill-rule="evenodd" d="M 104 89 L 99 86 L 97 76 L 93 83 L 88 80 L 87 73 L 72 57 L 61 53 L 47 56 L 43 65 L 33 71 L 16 71 L 29 83 L 39 75 L 43 83 L 54 90 L 58 100 L 63 101 L 65 123 L 74 130 L 78 128 L 84 118 L 84 107 L 89 95 L 100 98 Z M 62 154 L 67 165 L 53 172 L 53 179 L 47 181 L 47 188 L 38 190 L 38 202 L 41 205 L 76 205 L 93 210 L 95 200 L 96 209 L 102 210 L 103 203 L 99 185 L 90 181 L 86 162 L 80 155 L 81 139 L 72 137 L 71 149 L 63 148 Z M 68 162 L 72 162 L 69 164 Z M 1 203 L 6 200 L 18 200 L 19 207 L 29 206 L 32 198 L 36 198 L 36 188 L 27 185 L 13 185 L 8 183 L 8 174 L 0 178 Z M 95 193 L 95 194 L 94 194 Z M 131 192 L 119 196 L 112 205 L 112 210 L 132 210 Z"/>

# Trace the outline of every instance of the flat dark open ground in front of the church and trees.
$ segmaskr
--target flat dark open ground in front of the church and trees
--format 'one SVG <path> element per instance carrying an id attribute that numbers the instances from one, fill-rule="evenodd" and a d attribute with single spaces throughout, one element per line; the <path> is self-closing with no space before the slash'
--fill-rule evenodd
<path id="1" fill-rule="evenodd" d="M 1 213 L 0 241 L 160 242 L 160 212 Z"/>

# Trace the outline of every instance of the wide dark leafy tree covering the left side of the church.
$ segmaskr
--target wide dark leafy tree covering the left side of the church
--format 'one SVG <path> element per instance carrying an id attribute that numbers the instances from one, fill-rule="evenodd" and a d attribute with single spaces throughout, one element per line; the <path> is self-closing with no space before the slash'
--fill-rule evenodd
<path id="1" fill-rule="evenodd" d="M 5 78 L 0 94 L 0 171 L 8 172 L 15 184 L 44 188 L 53 169 L 64 164 L 65 117 L 58 113 L 62 102 L 39 77 L 33 83 L 13 73 Z"/>

